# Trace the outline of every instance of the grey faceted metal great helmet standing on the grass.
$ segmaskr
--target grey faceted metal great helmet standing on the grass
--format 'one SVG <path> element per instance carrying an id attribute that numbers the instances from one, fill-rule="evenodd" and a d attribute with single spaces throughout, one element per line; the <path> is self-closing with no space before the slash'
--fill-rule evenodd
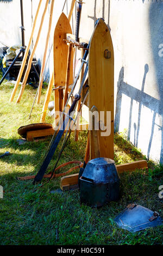
<path id="1" fill-rule="evenodd" d="M 80 201 L 99 207 L 120 198 L 120 176 L 114 160 L 99 157 L 89 161 L 80 177 Z"/>

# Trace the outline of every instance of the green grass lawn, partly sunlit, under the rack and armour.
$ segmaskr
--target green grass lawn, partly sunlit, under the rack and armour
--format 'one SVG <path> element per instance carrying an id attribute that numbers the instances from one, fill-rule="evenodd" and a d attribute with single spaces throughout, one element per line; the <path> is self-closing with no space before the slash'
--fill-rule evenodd
<path id="1" fill-rule="evenodd" d="M 50 138 L 18 145 L 18 127 L 40 121 L 46 90 L 43 89 L 41 103 L 35 105 L 32 118 L 28 120 L 36 89 L 27 86 L 16 106 L 15 102 L 9 103 L 12 89 L 11 84 L 0 86 L 0 154 L 11 153 L 0 159 L 0 185 L 4 187 L 4 198 L 0 199 L 0 245 L 162 245 L 162 225 L 131 234 L 118 229 L 114 223 L 116 215 L 129 203 L 158 211 L 163 217 L 163 201 L 158 197 L 158 188 L 163 185 L 162 175 L 150 178 L 147 170 L 122 174 L 121 199 L 101 209 L 80 205 L 78 191 L 52 194 L 52 190 L 59 188 L 60 179 L 54 179 L 36 192 L 33 192 L 31 180 L 16 179 L 17 176 L 36 174 Z M 52 123 L 50 118 L 46 121 Z M 71 135 L 60 163 L 83 161 L 85 147 L 86 132 L 80 132 L 78 142 L 74 142 Z M 59 149 L 48 170 L 54 166 L 58 152 Z M 116 133 L 116 164 L 141 159 L 145 156 Z M 154 164 L 152 161 L 148 163 L 155 174 L 152 171 Z"/>

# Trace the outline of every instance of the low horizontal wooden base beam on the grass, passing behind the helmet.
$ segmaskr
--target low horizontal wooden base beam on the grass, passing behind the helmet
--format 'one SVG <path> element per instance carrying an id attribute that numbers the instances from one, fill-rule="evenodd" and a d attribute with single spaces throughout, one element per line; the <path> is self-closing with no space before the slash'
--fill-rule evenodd
<path id="1" fill-rule="evenodd" d="M 118 164 L 116 165 L 116 168 L 118 170 L 118 173 L 124 173 L 124 172 L 132 172 L 135 169 L 148 169 L 147 161 L 140 160 L 132 163 L 124 163 L 124 164 Z M 60 188 L 61 190 L 64 190 L 64 186 L 73 186 L 78 184 L 78 176 L 79 174 L 72 174 L 68 176 L 64 176 L 60 180 Z"/>

